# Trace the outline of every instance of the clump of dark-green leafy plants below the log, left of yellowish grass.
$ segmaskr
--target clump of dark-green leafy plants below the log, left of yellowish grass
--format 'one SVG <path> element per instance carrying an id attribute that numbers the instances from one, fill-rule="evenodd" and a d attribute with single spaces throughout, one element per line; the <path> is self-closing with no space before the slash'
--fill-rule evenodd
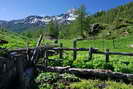
<path id="1" fill-rule="evenodd" d="M 71 82 L 79 82 L 80 78 L 67 73 L 45 72 L 40 73 L 35 81 L 39 89 L 65 89 Z"/>

